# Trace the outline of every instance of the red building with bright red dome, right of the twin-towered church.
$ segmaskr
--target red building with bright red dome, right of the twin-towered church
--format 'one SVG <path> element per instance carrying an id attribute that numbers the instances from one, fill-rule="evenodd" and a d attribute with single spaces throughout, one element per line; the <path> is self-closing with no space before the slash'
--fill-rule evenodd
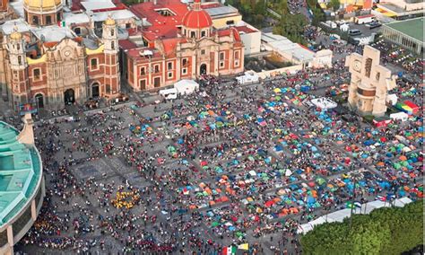
<path id="1" fill-rule="evenodd" d="M 214 30 L 210 15 L 201 9 L 199 1 L 183 15 L 181 24 L 169 29 L 173 31 L 168 38 L 152 36 L 150 30 L 143 36 L 146 47 L 126 48 L 126 78 L 134 91 L 158 89 L 202 75 L 243 72 L 244 46 L 239 31 Z M 128 43 L 121 42 L 123 47 Z"/>

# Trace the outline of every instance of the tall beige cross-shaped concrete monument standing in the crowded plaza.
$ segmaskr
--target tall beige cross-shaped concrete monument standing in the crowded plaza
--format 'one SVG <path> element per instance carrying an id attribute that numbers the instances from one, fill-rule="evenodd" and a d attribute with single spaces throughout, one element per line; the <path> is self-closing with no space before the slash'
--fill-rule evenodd
<path id="1" fill-rule="evenodd" d="M 384 116 L 388 91 L 396 86 L 395 75 L 379 65 L 380 54 L 377 48 L 365 46 L 363 56 L 352 53 L 345 60 L 351 73 L 348 103 L 361 115 Z"/>

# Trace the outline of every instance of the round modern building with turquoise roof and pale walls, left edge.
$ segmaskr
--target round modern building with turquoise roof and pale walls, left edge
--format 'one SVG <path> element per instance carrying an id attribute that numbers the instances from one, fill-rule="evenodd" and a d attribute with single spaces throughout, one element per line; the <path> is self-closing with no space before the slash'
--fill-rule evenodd
<path id="1" fill-rule="evenodd" d="M 37 219 L 45 187 L 30 114 L 20 133 L 0 121 L 0 254 L 13 254 Z"/>

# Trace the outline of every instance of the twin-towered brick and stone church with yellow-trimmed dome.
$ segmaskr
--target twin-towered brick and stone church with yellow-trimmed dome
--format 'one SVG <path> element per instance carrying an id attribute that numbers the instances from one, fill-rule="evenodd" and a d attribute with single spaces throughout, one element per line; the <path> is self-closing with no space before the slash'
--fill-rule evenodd
<path id="1" fill-rule="evenodd" d="M 66 31 L 60 0 L 25 0 L 25 23 L 2 34 L 0 83 L 2 96 L 14 110 L 29 101 L 39 108 L 62 109 L 91 97 L 114 98 L 120 92 L 117 24 L 108 17 L 101 38 Z M 54 25 L 52 25 L 54 24 Z M 56 38 L 52 31 L 65 31 Z"/>

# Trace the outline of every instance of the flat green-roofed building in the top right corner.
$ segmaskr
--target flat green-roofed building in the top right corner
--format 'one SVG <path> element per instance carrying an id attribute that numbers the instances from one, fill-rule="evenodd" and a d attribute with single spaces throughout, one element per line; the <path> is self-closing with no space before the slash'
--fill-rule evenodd
<path id="1" fill-rule="evenodd" d="M 401 22 L 391 22 L 382 26 L 382 34 L 404 48 L 416 54 L 423 54 L 423 17 Z"/>

